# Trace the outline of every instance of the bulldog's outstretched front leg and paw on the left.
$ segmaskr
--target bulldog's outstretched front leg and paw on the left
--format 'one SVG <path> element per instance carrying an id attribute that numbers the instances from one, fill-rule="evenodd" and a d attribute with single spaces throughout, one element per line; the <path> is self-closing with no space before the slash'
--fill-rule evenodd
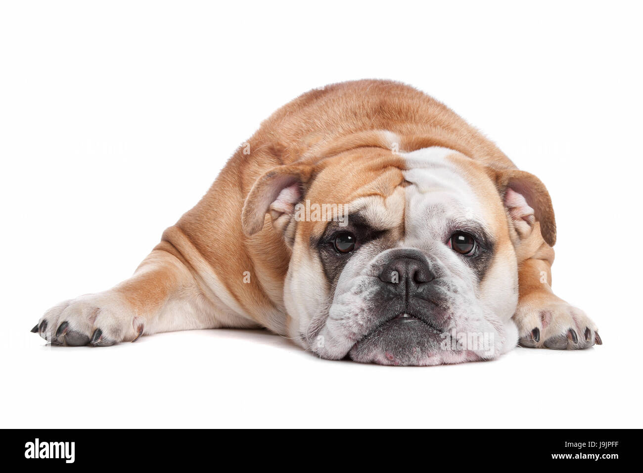
<path id="1" fill-rule="evenodd" d="M 163 331 L 253 326 L 207 291 L 192 265 L 163 241 L 130 279 L 58 304 L 33 331 L 53 344 L 108 346 Z"/>

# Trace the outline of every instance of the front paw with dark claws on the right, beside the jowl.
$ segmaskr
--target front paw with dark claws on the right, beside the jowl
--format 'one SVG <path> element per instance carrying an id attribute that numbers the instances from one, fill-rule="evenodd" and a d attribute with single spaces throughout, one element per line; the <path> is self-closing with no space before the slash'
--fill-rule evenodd
<path id="1" fill-rule="evenodd" d="M 602 345 L 596 324 L 584 311 L 551 293 L 521 300 L 513 318 L 523 347 L 564 350 Z"/>

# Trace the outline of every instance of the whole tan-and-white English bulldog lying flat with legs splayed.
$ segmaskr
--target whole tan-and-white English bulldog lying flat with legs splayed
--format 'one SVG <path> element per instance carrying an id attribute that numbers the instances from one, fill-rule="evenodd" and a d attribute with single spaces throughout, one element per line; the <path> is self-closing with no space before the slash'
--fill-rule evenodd
<path id="1" fill-rule="evenodd" d="M 103 347 L 267 328 L 387 365 L 601 344 L 552 292 L 554 243 L 545 185 L 460 116 L 398 82 L 343 82 L 263 122 L 130 279 L 32 331 Z"/>

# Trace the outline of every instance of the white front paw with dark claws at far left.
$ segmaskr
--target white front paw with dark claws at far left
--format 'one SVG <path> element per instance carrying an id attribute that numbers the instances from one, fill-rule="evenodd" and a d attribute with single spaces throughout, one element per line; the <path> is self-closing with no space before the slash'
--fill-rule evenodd
<path id="1" fill-rule="evenodd" d="M 32 329 L 54 345 L 109 346 L 134 341 L 143 333 L 143 319 L 115 292 L 87 294 L 61 302 Z"/>

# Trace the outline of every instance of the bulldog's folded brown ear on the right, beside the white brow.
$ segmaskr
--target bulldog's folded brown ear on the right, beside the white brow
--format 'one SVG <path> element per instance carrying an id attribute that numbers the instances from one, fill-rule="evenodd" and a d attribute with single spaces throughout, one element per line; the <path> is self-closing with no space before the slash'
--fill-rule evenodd
<path id="1" fill-rule="evenodd" d="M 509 223 L 522 240 L 540 224 L 540 233 L 547 245 L 556 243 L 556 219 L 552 199 L 545 184 L 534 174 L 518 169 L 490 170 L 490 176 L 500 193 Z"/>

